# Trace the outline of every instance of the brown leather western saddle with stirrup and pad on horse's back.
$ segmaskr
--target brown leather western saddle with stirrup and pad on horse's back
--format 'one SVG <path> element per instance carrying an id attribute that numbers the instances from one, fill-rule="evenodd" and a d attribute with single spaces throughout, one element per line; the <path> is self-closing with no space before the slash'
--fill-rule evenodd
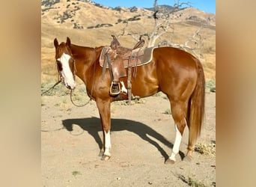
<path id="1" fill-rule="evenodd" d="M 121 46 L 115 35 L 112 37 L 110 46 L 104 47 L 100 55 L 100 66 L 103 67 L 102 79 L 106 68 L 109 68 L 112 79 L 109 93 L 111 96 L 118 96 L 121 93 L 119 78 L 127 76 L 125 68 L 128 67 L 127 87 L 130 102 L 132 97 L 131 76 L 133 78 L 136 76 L 137 66 L 147 64 L 152 59 L 153 47 L 142 48 L 144 40 L 139 40 L 132 49 L 128 49 Z M 134 67 L 133 75 L 131 73 L 132 67 Z"/>

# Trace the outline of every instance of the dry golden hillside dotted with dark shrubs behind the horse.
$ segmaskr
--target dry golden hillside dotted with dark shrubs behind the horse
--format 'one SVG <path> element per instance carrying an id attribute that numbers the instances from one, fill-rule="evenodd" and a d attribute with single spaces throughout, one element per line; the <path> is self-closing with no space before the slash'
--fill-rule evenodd
<path id="1" fill-rule="evenodd" d="M 165 10 L 166 9 L 165 7 Z M 201 61 L 207 79 L 215 78 L 215 15 L 189 7 L 171 14 L 173 31 L 169 31 L 156 41 L 171 40 L 172 43 L 185 43 L 195 31 L 204 25 L 200 34 L 203 37 Z M 56 75 L 53 40 L 70 37 L 72 43 L 82 46 L 105 46 L 112 40 L 111 34 L 120 36 L 126 33 L 150 33 L 154 24 L 153 11 L 138 7 L 105 7 L 92 1 L 43 0 L 41 1 L 41 47 L 42 78 Z M 121 36 L 123 46 L 132 47 L 136 42 L 131 36 Z"/>

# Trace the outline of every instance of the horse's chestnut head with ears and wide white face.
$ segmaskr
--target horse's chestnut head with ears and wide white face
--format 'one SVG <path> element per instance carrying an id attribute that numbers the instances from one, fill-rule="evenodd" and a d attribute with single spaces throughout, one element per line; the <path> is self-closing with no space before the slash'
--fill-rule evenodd
<path id="1" fill-rule="evenodd" d="M 67 88 L 73 90 L 76 88 L 75 82 L 75 60 L 70 49 L 70 38 L 67 37 L 66 43 L 62 42 L 58 45 L 58 40 L 55 38 L 55 59 L 58 67 L 58 72 L 64 79 L 64 84 Z"/>

